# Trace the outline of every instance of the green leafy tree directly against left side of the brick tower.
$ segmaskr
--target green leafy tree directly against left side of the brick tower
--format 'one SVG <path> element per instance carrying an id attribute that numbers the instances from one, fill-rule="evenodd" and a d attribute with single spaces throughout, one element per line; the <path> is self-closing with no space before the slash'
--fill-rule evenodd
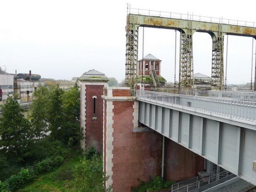
<path id="1" fill-rule="evenodd" d="M 80 140 L 80 91 L 78 86 L 65 90 L 62 95 L 63 126 L 62 138 L 66 143 L 70 138 L 78 143 Z"/>

